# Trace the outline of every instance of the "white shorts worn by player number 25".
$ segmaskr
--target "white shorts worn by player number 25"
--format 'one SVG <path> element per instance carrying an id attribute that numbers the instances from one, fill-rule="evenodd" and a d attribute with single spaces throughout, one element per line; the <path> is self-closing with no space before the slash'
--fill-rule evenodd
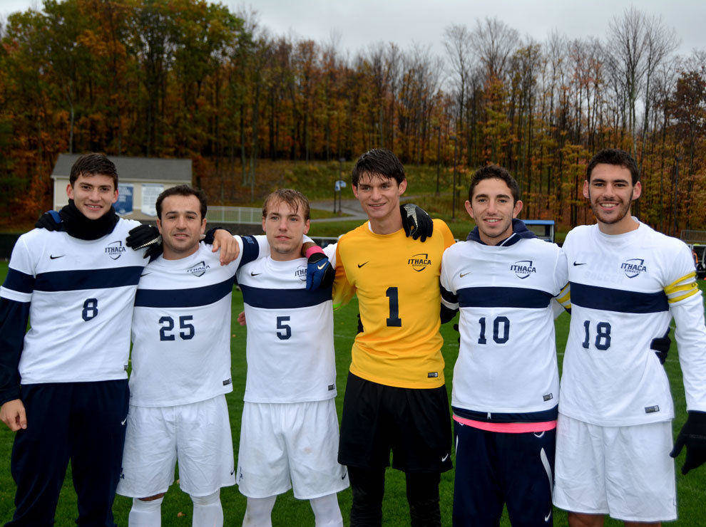
<path id="1" fill-rule="evenodd" d="M 118 494 L 146 498 L 166 492 L 179 461 L 179 486 L 208 496 L 235 484 L 225 395 L 170 407 L 130 406 Z"/>

